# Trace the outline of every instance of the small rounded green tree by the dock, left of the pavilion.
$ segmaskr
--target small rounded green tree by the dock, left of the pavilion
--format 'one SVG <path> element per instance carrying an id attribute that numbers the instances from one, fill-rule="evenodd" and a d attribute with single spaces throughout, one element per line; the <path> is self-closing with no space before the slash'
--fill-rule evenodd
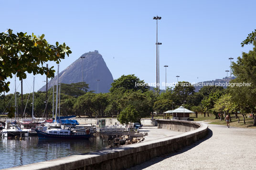
<path id="1" fill-rule="evenodd" d="M 135 107 L 128 105 L 124 110 L 117 116 L 117 120 L 122 124 L 130 124 L 136 122 L 139 119 L 139 113 Z"/>

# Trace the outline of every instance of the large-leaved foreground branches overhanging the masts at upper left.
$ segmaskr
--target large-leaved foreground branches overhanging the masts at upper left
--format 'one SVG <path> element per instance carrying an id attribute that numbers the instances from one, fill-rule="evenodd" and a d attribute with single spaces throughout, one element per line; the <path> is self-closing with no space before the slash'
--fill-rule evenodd
<path id="1" fill-rule="evenodd" d="M 47 69 L 43 67 L 43 63 L 47 61 L 59 63 L 65 55 L 71 53 L 69 49 L 65 43 L 49 44 L 44 39 L 44 35 L 36 37 L 23 32 L 16 35 L 11 29 L 8 33 L 0 33 L 0 92 L 10 90 L 10 81 L 6 82 L 6 80 L 8 77 L 12 78 L 12 74 L 17 74 L 20 80 L 26 79 L 25 72 L 53 77 L 53 67 Z"/>

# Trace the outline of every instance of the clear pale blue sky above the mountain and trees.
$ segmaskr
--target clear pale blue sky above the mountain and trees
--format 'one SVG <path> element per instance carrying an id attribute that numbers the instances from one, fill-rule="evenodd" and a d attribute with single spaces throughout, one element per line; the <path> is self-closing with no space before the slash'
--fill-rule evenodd
<path id="1" fill-rule="evenodd" d="M 64 70 L 83 53 L 99 50 L 114 79 L 135 74 L 155 82 L 156 20 L 159 20 L 160 82 L 222 79 L 229 57 L 237 58 L 251 45 L 241 41 L 256 29 L 255 0 L 0 0 L 0 32 L 45 34 L 72 50 L 62 60 Z M 113 59 L 113 57 L 115 59 Z M 57 69 L 56 64 L 49 63 Z M 27 76 L 24 93 L 32 87 Z M 35 91 L 45 84 L 36 76 Z M 20 82 L 17 81 L 17 87 Z M 11 80 L 14 91 L 14 79 Z M 164 87 L 160 87 L 165 89 Z M 20 86 L 19 89 L 20 90 Z"/>

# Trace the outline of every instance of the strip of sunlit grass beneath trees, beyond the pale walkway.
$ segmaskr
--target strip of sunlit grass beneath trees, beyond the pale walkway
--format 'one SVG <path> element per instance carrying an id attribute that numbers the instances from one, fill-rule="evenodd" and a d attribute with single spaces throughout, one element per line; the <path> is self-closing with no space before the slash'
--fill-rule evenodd
<path id="1" fill-rule="evenodd" d="M 239 128 L 255 128 L 256 126 L 253 126 L 253 122 L 254 120 L 252 118 L 245 118 L 245 124 L 244 124 L 244 118 L 241 114 L 237 115 L 240 119 L 240 122 L 238 123 L 238 119 L 235 119 L 234 114 L 231 115 L 231 119 L 232 122 L 229 123 L 230 126 L 233 127 L 239 127 Z M 233 118 L 234 117 L 234 118 Z M 226 126 L 226 122 L 225 120 L 219 120 L 219 119 L 215 119 L 215 115 L 212 114 L 212 116 L 207 116 L 207 114 L 205 115 L 205 117 L 203 115 L 198 114 L 198 118 L 195 117 L 195 114 L 190 114 L 190 118 L 194 119 L 194 121 L 209 121 L 211 122 L 211 124 L 216 124 L 216 125 L 225 125 Z"/>

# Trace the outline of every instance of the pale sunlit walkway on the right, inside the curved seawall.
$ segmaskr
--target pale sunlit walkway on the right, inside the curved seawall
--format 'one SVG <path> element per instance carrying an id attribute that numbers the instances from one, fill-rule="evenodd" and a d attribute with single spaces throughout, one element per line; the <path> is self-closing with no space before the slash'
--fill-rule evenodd
<path id="1" fill-rule="evenodd" d="M 256 130 L 208 124 L 207 138 L 130 170 L 256 170 Z"/>

